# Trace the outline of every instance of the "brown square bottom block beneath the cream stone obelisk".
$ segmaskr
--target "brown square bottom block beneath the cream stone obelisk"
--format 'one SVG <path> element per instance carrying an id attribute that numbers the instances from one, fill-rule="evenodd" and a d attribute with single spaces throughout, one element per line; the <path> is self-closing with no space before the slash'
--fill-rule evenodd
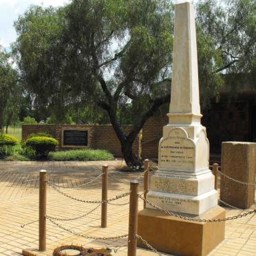
<path id="1" fill-rule="evenodd" d="M 184 215 L 179 213 L 180 215 Z M 198 216 L 200 219 L 222 219 L 226 211 L 220 206 Z M 193 217 L 193 215 L 184 215 Z M 225 237 L 224 222 L 192 222 L 178 219 L 156 209 L 144 209 L 138 213 L 138 235 L 153 248 L 173 255 L 207 255 Z M 138 239 L 138 246 L 146 248 Z"/>

